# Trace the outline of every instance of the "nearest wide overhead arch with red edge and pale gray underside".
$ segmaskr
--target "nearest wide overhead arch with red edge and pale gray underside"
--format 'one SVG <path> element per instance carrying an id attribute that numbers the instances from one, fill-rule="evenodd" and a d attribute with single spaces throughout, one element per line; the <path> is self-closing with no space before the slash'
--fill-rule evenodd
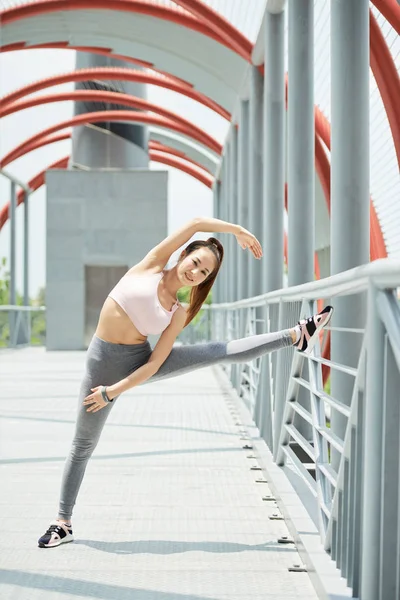
<path id="1" fill-rule="evenodd" d="M 75 46 L 105 47 L 191 81 L 230 112 L 251 60 L 227 47 L 208 24 L 151 2 L 44 0 L 4 10 L 0 16 L 2 45 L 9 49 L 72 38 Z M 104 22 L 101 34 L 96 20 Z"/>

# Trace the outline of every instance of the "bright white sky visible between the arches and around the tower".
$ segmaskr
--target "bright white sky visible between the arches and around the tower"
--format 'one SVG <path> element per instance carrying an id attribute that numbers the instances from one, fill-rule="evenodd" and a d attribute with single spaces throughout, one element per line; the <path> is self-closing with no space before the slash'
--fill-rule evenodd
<path id="1" fill-rule="evenodd" d="M 73 71 L 75 52 L 72 50 L 24 50 L 0 54 L 0 95 L 4 96 L 28 83 L 51 75 Z M 52 91 L 74 89 L 74 84 L 47 88 L 36 95 Z M 210 109 L 198 102 L 175 92 L 148 86 L 148 100 L 160 104 L 182 117 L 204 128 L 219 142 L 223 143 L 228 131 L 228 123 Z M 29 108 L 0 120 L 0 156 L 42 129 L 64 121 L 73 114 L 72 102 L 58 102 L 43 107 Z M 14 161 L 6 170 L 24 182 L 48 165 L 69 155 L 69 141 L 58 142 L 40 148 Z M 169 171 L 168 231 L 180 227 L 194 216 L 212 216 L 212 192 L 189 175 L 176 169 L 150 163 L 151 169 Z M 10 182 L 0 176 L 0 207 L 10 198 Z M 46 278 L 46 188 L 43 186 L 31 196 L 30 202 L 30 283 L 31 296 L 45 285 Z M 17 289 L 22 291 L 23 277 L 23 207 L 17 209 Z M 0 231 L 0 259 L 9 260 L 10 228 L 7 223 Z M 203 236 L 205 237 L 205 236 Z"/>

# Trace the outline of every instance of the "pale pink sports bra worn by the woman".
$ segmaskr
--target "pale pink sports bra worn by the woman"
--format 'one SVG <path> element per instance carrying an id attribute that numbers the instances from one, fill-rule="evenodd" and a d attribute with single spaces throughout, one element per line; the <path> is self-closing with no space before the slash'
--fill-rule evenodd
<path id="1" fill-rule="evenodd" d="M 178 300 L 172 310 L 161 306 L 158 285 L 164 272 L 149 275 L 127 273 L 108 294 L 126 312 L 136 329 L 144 336 L 157 335 L 171 323 L 179 307 Z"/>

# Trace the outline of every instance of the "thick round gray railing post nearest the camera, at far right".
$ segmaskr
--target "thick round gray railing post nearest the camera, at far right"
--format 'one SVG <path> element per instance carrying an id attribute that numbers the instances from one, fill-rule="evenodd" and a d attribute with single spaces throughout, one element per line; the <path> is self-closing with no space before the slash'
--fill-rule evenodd
<path id="1" fill-rule="evenodd" d="M 385 330 L 377 307 L 377 290 L 370 284 L 367 312 L 367 374 L 365 394 L 365 435 L 363 452 L 363 507 L 361 545 L 362 600 L 379 600 L 382 398 Z M 383 599 L 382 599 L 383 600 Z M 386 599 L 385 599 L 386 600 Z"/>

